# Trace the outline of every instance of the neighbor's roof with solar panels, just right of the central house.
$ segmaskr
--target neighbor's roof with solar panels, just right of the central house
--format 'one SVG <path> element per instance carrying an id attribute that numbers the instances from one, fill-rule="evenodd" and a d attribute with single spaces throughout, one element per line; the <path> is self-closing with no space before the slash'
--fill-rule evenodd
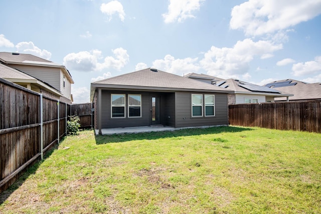
<path id="1" fill-rule="evenodd" d="M 235 93 L 251 93 L 251 94 L 265 94 L 270 96 L 292 96 L 292 94 L 282 93 L 281 91 L 255 85 L 252 83 L 235 80 L 235 79 L 227 79 L 216 82 L 216 85 L 222 88 L 231 89 L 235 91 Z"/>

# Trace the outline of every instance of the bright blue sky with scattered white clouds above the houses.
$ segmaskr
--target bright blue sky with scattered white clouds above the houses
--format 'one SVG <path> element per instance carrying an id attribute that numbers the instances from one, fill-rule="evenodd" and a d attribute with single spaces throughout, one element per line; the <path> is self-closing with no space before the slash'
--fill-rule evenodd
<path id="1" fill-rule="evenodd" d="M 321 0 L 0 0 L 0 51 L 65 65 L 75 103 L 90 82 L 148 67 L 263 85 L 321 82 Z"/>

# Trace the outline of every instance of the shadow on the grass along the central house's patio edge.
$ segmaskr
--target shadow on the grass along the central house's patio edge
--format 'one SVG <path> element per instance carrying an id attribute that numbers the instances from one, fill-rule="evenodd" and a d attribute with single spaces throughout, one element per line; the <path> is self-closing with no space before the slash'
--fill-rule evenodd
<path id="1" fill-rule="evenodd" d="M 218 134 L 222 132 L 242 132 L 253 130 L 253 128 L 235 127 L 235 126 L 218 126 L 211 128 L 187 128 L 174 131 L 158 131 L 143 133 L 126 133 L 126 134 L 110 134 L 95 135 L 96 144 L 121 143 L 131 140 L 155 140 L 160 138 L 193 136 L 203 134 Z"/>

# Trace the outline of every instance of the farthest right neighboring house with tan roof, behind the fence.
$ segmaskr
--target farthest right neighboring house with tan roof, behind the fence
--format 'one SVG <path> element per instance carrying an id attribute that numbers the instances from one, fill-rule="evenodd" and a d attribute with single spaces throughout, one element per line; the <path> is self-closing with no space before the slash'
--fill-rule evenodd
<path id="1" fill-rule="evenodd" d="M 321 83 L 305 83 L 298 80 L 278 80 L 264 85 L 283 93 L 293 94 L 290 101 L 321 100 Z M 275 98 L 275 101 L 284 101 L 285 98 Z"/>

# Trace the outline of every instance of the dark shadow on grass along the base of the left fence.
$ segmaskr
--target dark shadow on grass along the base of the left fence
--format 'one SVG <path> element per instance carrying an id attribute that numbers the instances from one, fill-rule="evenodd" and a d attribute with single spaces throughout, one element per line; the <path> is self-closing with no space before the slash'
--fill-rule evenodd
<path id="1" fill-rule="evenodd" d="M 64 139 L 65 137 L 61 139 L 60 142 L 62 142 Z M 20 186 L 22 186 L 25 180 L 27 180 L 29 176 L 35 174 L 39 166 L 43 163 L 43 161 L 46 158 L 50 157 L 50 155 L 58 148 L 59 148 L 59 144 L 54 145 L 52 148 L 50 148 L 44 153 L 43 160 L 37 159 L 33 163 L 31 163 L 27 168 L 21 171 L 17 175 L 18 178 L 16 179 L 16 181 L 13 184 L 11 184 L 6 190 L 0 192 L 0 205 L 3 204 L 15 190 L 17 190 Z"/>

